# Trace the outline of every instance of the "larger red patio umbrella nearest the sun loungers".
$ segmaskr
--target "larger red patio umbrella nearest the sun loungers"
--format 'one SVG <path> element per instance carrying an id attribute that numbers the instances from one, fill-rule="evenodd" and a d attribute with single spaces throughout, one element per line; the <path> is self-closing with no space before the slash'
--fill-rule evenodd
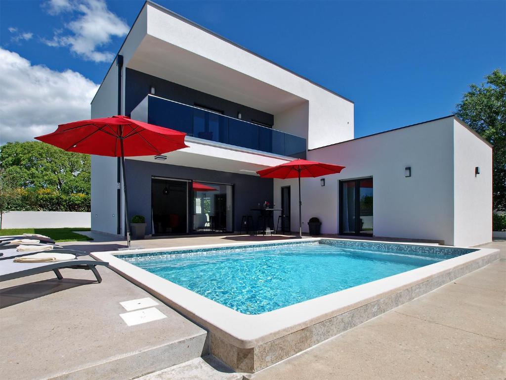
<path id="1" fill-rule="evenodd" d="M 132 120 L 126 116 L 113 116 L 60 124 L 53 133 L 35 138 L 76 153 L 121 158 L 126 241 L 130 247 L 124 158 L 162 155 L 186 148 L 188 146 L 184 142 L 185 136 L 186 133 Z"/>

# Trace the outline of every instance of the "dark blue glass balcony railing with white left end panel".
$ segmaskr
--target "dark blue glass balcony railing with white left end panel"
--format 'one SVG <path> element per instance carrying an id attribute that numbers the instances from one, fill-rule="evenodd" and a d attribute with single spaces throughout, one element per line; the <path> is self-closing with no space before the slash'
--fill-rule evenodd
<path id="1" fill-rule="evenodd" d="M 306 158 L 306 139 L 303 137 L 152 95 L 148 95 L 132 111 L 132 118 L 147 120 L 150 124 L 185 132 L 188 136 L 203 140 L 280 156 Z"/>

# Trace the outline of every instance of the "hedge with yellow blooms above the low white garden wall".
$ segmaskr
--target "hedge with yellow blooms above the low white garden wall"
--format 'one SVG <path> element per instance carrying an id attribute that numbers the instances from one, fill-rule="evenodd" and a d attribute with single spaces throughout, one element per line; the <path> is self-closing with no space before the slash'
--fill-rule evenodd
<path id="1" fill-rule="evenodd" d="M 61 194 L 53 189 L 16 188 L 2 194 L 4 211 L 86 211 L 91 209 L 87 194 Z"/>

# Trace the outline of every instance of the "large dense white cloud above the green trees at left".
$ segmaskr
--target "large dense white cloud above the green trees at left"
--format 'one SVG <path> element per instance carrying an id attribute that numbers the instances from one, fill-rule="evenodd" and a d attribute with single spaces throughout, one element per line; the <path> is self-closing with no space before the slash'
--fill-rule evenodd
<path id="1" fill-rule="evenodd" d="M 27 141 L 58 124 L 90 118 L 98 85 L 72 70 L 32 65 L 0 48 L 0 144 Z"/>

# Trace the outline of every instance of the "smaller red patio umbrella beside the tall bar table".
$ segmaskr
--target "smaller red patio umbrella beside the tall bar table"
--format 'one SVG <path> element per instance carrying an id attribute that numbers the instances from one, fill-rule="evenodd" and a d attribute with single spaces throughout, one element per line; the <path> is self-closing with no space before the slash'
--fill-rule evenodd
<path id="1" fill-rule="evenodd" d="M 299 178 L 299 237 L 302 238 L 301 177 L 320 177 L 322 175 L 340 173 L 344 168 L 345 166 L 299 159 L 273 166 L 272 168 L 259 170 L 257 173 L 264 178 Z"/>

